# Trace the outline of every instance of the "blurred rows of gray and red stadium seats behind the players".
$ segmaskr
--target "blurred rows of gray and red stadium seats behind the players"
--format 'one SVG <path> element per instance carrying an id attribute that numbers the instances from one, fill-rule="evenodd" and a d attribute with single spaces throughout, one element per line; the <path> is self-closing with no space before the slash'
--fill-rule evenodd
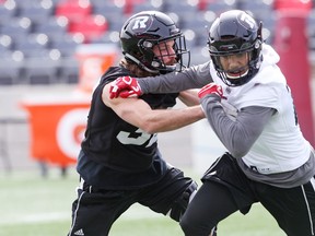
<path id="1" fill-rule="evenodd" d="M 119 31 L 133 13 L 161 10 L 187 36 L 191 62 L 209 59 L 211 23 L 222 11 L 242 9 L 264 22 L 272 44 L 276 14 L 272 0 L 0 0 L 0 85 L 77 83 L 80 44 L 119 45 Z M 314 0 L 313 0 L 313 8 Z M 314 12 L 314 10 L 313 10 Z M 310 48 L 315 50 L 314 13 L 310 15 Z M 205 50 L 206 48 L 206 50 Z M 200 57 L 202 55 L 202 57 Z"/>

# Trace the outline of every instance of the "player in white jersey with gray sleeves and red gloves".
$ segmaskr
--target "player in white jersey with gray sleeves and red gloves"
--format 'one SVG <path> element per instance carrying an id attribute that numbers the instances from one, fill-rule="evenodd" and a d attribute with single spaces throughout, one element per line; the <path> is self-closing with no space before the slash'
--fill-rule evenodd
<path id="1" fill-rule="evenodd" d="M 255 202 L 288 236 L 314 235 L 314 150 L 301 132 L 280 58 L 264 43 L 261 25 L 244 11 L 226 11 L 210 27 L 208 62 L 112 83 L 112 97 L 201 88 L 203 111 L 228 152 L 201 178 L 180 221 L 186 236 L 208 236 Z"/>

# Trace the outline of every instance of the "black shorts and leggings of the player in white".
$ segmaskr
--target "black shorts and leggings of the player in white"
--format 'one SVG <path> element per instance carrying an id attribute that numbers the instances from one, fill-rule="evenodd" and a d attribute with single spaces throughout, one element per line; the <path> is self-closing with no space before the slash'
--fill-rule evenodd
<path id="1" fill-rule="evenodd" d="M 246 214 L 255 202 L 271 213 L 288 236 L 314 235 L 314 178 L 287 189 L 253 181 L 243 174 L 235 158 L 224 154 L 201 180 L 203 185 L 180 221 L 186 236 L 208 236 L 220 221 L 238 210 Z"/>

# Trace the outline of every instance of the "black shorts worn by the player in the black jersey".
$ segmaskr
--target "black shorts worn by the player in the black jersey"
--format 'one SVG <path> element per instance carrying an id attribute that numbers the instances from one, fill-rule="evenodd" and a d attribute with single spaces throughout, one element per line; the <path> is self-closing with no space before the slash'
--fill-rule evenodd
<path id="1" fill-rule="evenodd" d="M 93 186 L 81 182 L 78 199 L 72 203 L 69 236 L 108 235 L 113 223 L 136 202 L 165 215 L 194 184 L 191 178 L 184 177 L 182 170 L 173 167 L 170 167 L 159 182 L 137 190 L 96 190 Z"/>

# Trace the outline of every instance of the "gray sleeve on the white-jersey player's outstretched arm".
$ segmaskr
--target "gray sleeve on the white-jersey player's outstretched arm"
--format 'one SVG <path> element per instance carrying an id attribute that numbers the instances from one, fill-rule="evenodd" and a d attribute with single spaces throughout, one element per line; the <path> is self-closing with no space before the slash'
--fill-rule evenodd
<path id="1" fill-rule="evenodd" d="M 137 79 L 143 93 L 177 93 L 211 83 L 210 62 L 190 67 L 182 72 Z"/>

